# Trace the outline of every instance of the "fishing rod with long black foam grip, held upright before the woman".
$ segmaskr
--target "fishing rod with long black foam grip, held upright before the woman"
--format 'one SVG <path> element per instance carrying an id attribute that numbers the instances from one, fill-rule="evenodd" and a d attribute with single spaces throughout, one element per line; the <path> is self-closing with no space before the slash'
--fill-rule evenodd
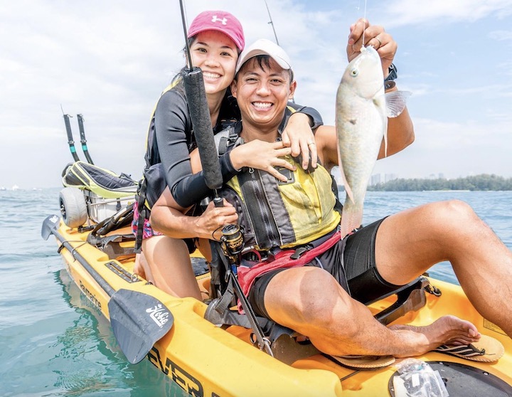
<path id="1" fill-rule="evenodd" d="M 203 71 L 201 68 L 194 68 L 192 64 L 190 45 L 188 43 L 188 34 L 186 30 L 185 12 L 183 9 L 183 0 L 180 0 L 180 9 L 183 33 L 185 34 L 186 51 L 188 55 L 188 71 L 183 73 L 183 86 L 185 87 L 185 95 L 199 150 L 199 157 L 201 157 L 201 165 L 203 166 L 203 175 L 206 180 L 206 186 L 214 191 L 213 203 L 215 203 L 215 206 L 222 207 L 223 199 L 219 196 L 218 189 L 223 186 L 223 176 L 220 171 L 215 139 L 213 139 L 213 128 L 211 125 L 208 102 L 206 101 Z M 213 244 L 215 244 L 216 250 L 221 250 L 220 243 L 218 241 L 213 241 Z M 242 287 L 240 287 L 240 282 L 238 282 L 235 269 L 232 270 L 230 268 L 226 258 L 223 257 L 223 253 L 220 253 L 220 258 L 223 260 L 223 263 L 225 263 L 229 280 L 235 289 L 235 294 L 240 300 L 242 309 L 244 309 L 245 314 L 247 314 L 247 319 L 254 331 L 257 344 L 260 346 L 261 350 L 265 349 L 265 351 L 272 356 L 270 344 L 265 339 L 265 335 L 263 334 L 260 324 L 257 322 L 255 312 L 252 310 L 249 300 L 247 300 L 247 297 L 242 292 Z"/>

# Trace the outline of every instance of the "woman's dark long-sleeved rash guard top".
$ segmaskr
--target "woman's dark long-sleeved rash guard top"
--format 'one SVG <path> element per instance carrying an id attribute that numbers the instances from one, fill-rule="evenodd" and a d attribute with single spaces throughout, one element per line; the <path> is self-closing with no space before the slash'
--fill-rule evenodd
<path id="1" fill-rule="evenodd" d="M 322 125 L 319 112 L 313 108 L 302 107 L 292 102 L 289 102 L 288 105 L 309 115 L 314 122 L 313 129 Z M 220 107 L 218 122 L 213 127 L 213 134 L 238 120 L 240 120 L 240 110 L 228 89 Z M 154 128 L 156 141 L 153 151 L 155 158 L 151 162 L 153 164 L 161 162 L 167 186 L 171 189 L 176 203 L 187 208 L 208 196 L 210 189 L 206 185 L 203 171 L 192 174 L 189 154 L 196 149 L 197 145 L 193 136 L 185 92 L 181 84 L 178 83 L 174 88 L 161 95 L 150 128 Z M 228 153 L 223 154 L 219 161 L 223 181 L 227 182 L 237 174 L 237 170 L 233 168 Z"/>

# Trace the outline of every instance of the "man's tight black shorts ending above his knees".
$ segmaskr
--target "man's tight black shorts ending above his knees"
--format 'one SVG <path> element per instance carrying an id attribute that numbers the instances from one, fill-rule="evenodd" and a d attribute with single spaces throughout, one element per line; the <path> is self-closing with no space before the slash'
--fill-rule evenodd
<path id="1" fill-rule="evenodd" d="M 349 235 L 306 266 L 324 268 L 353 299 L 364 304 L 397 290 L 401 285 L 386 282 L 375 265 L 375 236 L 383 220 L 380 219 Z M 265 309 L 265 289 L 272 277 L 284 270 L 287 269 L 267 272 L 252 285 L 249 301 L 258 315 L 269 317 Z"/>

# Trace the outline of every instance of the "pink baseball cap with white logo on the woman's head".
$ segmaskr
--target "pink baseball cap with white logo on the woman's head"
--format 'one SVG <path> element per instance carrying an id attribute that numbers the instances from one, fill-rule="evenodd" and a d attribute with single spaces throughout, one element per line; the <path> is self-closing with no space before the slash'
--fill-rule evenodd
<path id="1" fill-rule="evenodd" d="M 188 38 L 203 31 L 220 31 L 231 38 L 240 51 L 245 47 L 242 24 L 226 11 L 203 11 L 188 28 Z"/>

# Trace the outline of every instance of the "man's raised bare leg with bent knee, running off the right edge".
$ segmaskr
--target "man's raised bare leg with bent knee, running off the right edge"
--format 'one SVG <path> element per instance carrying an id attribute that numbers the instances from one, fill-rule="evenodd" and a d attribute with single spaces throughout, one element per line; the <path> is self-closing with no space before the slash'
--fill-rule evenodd
<path id="1" fill-rule="evenodd" d="M 512 337 L 512 252 L 466 203 L 441 201 L 386 218 L 375 258 L 380 275 L 395 285 L 449 260 L 474 307 Z"/>

